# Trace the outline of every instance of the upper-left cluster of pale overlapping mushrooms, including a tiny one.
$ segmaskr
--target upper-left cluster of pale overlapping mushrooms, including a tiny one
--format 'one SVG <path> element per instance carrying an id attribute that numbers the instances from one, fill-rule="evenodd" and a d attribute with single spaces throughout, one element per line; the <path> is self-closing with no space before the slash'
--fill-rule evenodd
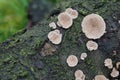
<path id="1" fill-rule="evenodd" d="M 68 29 L 72 26 L 73 19 L 76 19 L 77 17 L 78 17 L 78 12 L 76 10 L 72 8 L 67 8 L 65 12 L 62 12 L 58 15 L 57 25 L 64 29 Z M 60 33 L 60 30 L 56 29 L 57 25 L 55 24 L 55 22 L 51 22 L 49 24 L 49 27 L 55 29 L 48 33 L 48 39 L 53 44 L 60 44 L 62 41 L 62 34 Z"/>

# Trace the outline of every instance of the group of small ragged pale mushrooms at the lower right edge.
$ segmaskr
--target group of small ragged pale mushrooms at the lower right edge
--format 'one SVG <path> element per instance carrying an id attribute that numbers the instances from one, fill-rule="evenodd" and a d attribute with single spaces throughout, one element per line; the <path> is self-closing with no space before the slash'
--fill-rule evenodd
<path id="1" fill-rule="evenodd" d="M 110 75 L 115 78 L 119 76 L 119 71 L 117 71 L 117 69 L 115 67 L 113 67 L 112 64 L 112 60 L 110 58 L 105 59 L 104 64 L 106 67 L 108 67 L 109 69 L 112 69 L 112 72 L 110 73 Z M 116 67 L 118 68 L 118 63 L 116 64 Z"/>

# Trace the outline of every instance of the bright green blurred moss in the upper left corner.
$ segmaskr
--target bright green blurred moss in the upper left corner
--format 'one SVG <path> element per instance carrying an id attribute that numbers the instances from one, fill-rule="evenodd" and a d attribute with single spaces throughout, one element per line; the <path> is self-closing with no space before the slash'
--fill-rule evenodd
<path id="1" fill-rule="evenodd" d="M 0 0 L 0 42 L 25 27 L 27 6 L 27 0 Z"/>

